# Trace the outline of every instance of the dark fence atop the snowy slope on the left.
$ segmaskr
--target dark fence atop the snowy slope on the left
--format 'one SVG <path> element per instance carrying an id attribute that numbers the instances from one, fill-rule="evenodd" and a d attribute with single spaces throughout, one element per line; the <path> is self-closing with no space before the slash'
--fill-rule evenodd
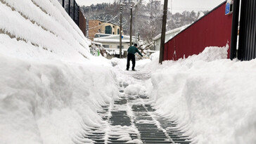
<path id="1" fill-rule="evenodd" d="M 74 20 L 80 30 L 82 30 L 84 36 L 86 36 L 87 21 L 84 18 L 84 15 L 82 14 L 77 2 L 75 0 L 58 0 L 58 2 L 60 2 L 68 15 L 70 15 L 72 20 Z"/>

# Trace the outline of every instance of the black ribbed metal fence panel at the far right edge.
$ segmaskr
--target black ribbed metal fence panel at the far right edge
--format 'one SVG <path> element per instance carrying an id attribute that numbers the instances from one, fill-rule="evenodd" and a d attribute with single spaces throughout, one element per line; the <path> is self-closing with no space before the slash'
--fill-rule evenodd
<path id="1" fill-rule="evenodd" d="M 238 59 L 256 58 L 256 1 L 241 1 Z"/>

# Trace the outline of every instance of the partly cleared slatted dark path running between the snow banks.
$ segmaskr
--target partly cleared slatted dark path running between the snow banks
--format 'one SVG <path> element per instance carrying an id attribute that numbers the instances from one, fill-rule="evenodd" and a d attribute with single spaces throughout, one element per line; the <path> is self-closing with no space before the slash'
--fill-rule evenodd
<path id="1" fill-rule="evenodd" d="M 128 73 L 138 81 L 150 78 L 149 74 Z M 128 77 L 129 77 L 128 76 Z M 136 81 L 134 81 L 136 83 Z M 128 84 L 120 84 L 121 89 Z M 123 90 L 120 90 L 124 93 Z M 172 119 L 160 116 L 148 103 L 146 95 L 123 94 L 119 100 L 103 105 L 98 111 L 104 123 L 87 127 L 80 142 L 87 143 L 191 143 L 184 131 L 177 128 Z M 91 142 L 89 142 L 91 140 Z"/>

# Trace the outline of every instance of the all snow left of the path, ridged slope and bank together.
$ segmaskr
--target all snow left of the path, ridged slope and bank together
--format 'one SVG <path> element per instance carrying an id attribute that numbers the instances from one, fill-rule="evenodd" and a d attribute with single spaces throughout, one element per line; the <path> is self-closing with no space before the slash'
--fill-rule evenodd
<path id="1" fill-rule="evenodd" d="M 0 143 L 89 142 L 118 96 L 108 62 L 57 0 L 1 0 L 0 18 Z"/>

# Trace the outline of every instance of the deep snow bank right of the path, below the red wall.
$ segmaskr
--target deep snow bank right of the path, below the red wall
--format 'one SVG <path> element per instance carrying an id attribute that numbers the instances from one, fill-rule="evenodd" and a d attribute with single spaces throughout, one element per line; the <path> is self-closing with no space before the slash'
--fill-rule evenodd
<path id="1" fill-rule="evenodd" d="M 256 60 L 231 61 L 226 51 L 209 47 L 163 65 L 155 58 L 143 66 L 152 71 L 148 94 L 198 143 L 256 143 Z"/>

